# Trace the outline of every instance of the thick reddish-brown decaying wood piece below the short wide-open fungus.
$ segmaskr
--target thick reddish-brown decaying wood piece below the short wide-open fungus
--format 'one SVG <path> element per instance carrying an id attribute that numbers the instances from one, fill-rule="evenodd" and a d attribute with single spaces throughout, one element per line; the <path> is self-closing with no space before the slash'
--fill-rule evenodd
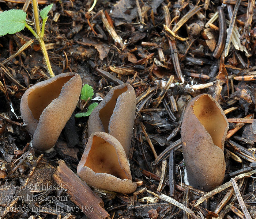
<path id="1" fill-rule="evenodd" d="M 102 208 L 103 201 L 93 193 L 90 187 L 68 168 L 63 160 L 59 161 L 54 180 L 61 185 L 73 201 L 90 219 L 102 219 L 109 216 Z M 91 208 L 91 209 L 90 209 Z"/>

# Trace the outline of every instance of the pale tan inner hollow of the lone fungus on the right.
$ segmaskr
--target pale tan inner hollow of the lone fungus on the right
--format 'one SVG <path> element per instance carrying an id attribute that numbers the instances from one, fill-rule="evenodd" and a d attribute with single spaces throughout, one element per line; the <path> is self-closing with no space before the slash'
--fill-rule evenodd
<path id="1" fill-rule="evenodd" d="M 193 110 L 197 119 L 211 135 L 213 143 L 222 149 L 222 137 L 227 123 L 220 109 L 210 97 L 203 95 L 195 101 Z"/>

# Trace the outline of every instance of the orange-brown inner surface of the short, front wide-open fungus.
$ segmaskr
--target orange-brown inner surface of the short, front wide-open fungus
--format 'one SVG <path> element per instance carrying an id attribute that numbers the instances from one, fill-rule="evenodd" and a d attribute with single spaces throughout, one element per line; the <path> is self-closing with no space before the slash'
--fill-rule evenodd
<path id="1" fill-rule="evenodd" d="M 84 166 L 88 166 L 95 173 L 108 173 L 121 180 L 127 179 L 119 165 L 114 146 L 98 136 L 93 137 L 93 144 Z"/>

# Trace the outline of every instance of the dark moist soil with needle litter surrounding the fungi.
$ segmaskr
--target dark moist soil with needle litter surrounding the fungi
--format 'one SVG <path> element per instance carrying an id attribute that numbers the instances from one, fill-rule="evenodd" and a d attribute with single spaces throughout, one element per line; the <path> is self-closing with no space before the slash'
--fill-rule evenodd
<path id="1" fill-rule="evenodd" d="M 23 0 L 1 0 L 0 10 L 22 9 L 24 3 Z M 39 1 L 39 9 L 50 3 Z M 237 121 L 229 123 L 229 130 L 236 128 L 237 132 L 233 130 L 225 141 L 226 176 L 223 184 L 230 182 L 231 177 L 252 172 L 256 166 L 256 128 L 252 120 L 256 102 L 255 5 L 254 1 L 249 1 L 249 4 L 242 1 L 240 5 L 229 0 L 224 3 L 224 18 L 215 20 L 206 28 L 206 22 L 217 12 L 221 1 L 97 0 L 91 13 L 88 12 L 91 1 L 54 1 L 44 37 L 53 72 L 56 75 L 78 73 L 83 84 L 93 87 L 94 97 L 104 97 L 111 87 L 123 82 L 135 89 L 137 109 L 129 161 L 133 181 L 142 181 L 142 185 L 135 194 L 129 195 L 92 188 L 103 200 L 110 218 L 249 219 L 245 208 L 241 207 L 242 202 L 251 218 L 256 218 L 255 174 L 236 180 L 241 196 L 237 191 L 235 195 L 231 193 L 219 211 L 216 208 L 229 188 L 233 189 L 232 184 L 211 194 L 212 197 L 197 206 L 194 206 L 196 201 L 205 192 L 183 184 L 181 116 L 187 101 L 200 93 L 212 95 L 223 110 L 229 111 L 227 118 L 247 116 L 251 119 L 240 129 L 236 127 Z M 200 11 L 198 9 L 197 14 L 189 16 L 191 8 Z M 30 5 L 27 9 L 30 21 L 33 20 L 31 10 Z M 117 43 L 110 36 L 109 27 L 102 22 L 101 10 L 123 43 Z M 246 15 L 247 11 L 250 13 Z M 232 19 L 232 15 L 237 19 Z M 237 42 L 241 45 L 238 50 L 231 43 L 229 53 L 224 57 L 223 50 L 219 51 L 218 47 L 225 46 L 229 34 L 227 37 L 223 34 L 223 40 L 218 41 L 219 31 L 223 31 L 223 26 L 228 28 L 230 20 L 235 21 L 234 28 L 238 28 L 241 36 Z M 170 30 L 176 28 L 175 37 L 164 24 Z M 26 29 L 1 37 L 0 63 L 15 54 L 29 39 L 33 39 L 33 35 Z M 247 54 L 241 51 L 244 49 Z M 165 87 L 172 76 L 171 86 Z M 234 76 L 245 77 L 241 80 Z M 248 77 L 250 81 L 247 81 Z M 20 55 L 7 64 L 0 64 L 1 218 L 87 218 L 64 190 L 51 187 L 44 192 L 33 188 L 19 191 L 26 182 L 29 185 L 56 186 L 52 174 L 59 160 L 64 160 L 76 173 L 87 140 L 88 117 L 78 119 L 72 116 L 51 153 L 41 153 L 29 146 L 31 137 L 20 118 L 20 98 L 27 88 L 47 78 L 49 74 L 35 39 Z M 209 82 L 212 83 L 207 84 Z M 192 87 L 195 84 L 205 84 L 205 87 L 196 89 Z M 173 107 L 170 102 L 174 103 Z M 79 102 L 74 113 L 86 111 L 82 105 Z M 150 144 L 158 155 L 157 159 Z M 41 154 L 43 156 L 39 157 Z M 157 199 L 148 191 L 171 196 L 183 207 Z M 46 194 L 48 200 L 19 199 L 31 194 L 34 197 Z M 238 202 L 237 196 L 242 201 Z M 184 205 L 195 214 L 189 216 Z M 8 212 L 5 211 L 7 206 L 14 208 Z M 35 211 L 33 207 L 45 207 L 45 212 Z"/>

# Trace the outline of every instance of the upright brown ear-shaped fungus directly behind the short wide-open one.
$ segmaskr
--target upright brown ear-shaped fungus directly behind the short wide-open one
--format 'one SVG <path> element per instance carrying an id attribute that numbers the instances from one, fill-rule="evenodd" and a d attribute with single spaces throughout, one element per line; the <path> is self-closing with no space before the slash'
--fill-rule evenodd
<path id="1" fill-rule="evenodd" d="M 129 84 L 110 89 L 93 110 L 88 120 L 89 136 L 95 131 L 107 132 L 123 145 L 129 153 L 135 116 L 136 95 Z"/>

